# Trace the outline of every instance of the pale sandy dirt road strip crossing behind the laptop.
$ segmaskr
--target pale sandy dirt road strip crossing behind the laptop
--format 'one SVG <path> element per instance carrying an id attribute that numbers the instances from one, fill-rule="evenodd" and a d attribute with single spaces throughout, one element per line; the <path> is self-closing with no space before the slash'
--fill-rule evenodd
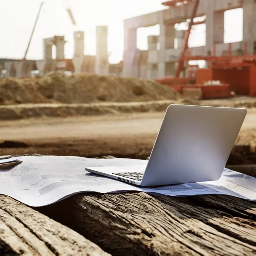
<path id="1" fill-rule="evenodd" d="M 29 119 L 0 123 L 2 140 L 91 139 L 130 135 L 156 135 L 163 120 L 160 113 Z M 256 109 L 248 110 L 241 131 L 256 128 Z"/>

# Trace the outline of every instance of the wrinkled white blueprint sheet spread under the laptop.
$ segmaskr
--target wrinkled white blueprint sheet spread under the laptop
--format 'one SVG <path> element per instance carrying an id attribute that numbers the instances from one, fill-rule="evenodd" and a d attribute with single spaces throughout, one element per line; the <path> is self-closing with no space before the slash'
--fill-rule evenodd
<path id="1" fill-rule="evenodd" d="M 152 195 L 221 194 L 256 201 L 256 178 L 224 169 L 218 181 L 141 188 L 85 171 L 91 166 L 138 166 L 146 160 L 70 156 L 20 157 L 23 163 L 0 169 L 0 194 L 33 207 L 53 204 L 81 192 L 140 191 Z"/>

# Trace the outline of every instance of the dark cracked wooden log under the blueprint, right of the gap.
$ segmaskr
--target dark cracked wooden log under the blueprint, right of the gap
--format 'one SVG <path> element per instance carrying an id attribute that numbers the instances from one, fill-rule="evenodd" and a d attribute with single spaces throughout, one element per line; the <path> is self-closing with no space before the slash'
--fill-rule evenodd
<path id="1" fill-rule="evenodd" d="M 40 210 L 112 255 L 256 253 L 256 203 L 230 196 L 77 194 Z"/>

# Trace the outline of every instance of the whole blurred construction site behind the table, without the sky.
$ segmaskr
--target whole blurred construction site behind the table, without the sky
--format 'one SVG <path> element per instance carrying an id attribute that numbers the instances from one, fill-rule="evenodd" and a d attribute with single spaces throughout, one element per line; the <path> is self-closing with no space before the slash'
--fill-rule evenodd
<path id="1" fill-rule="evenodd" d="M 43 39 L 42 60 L 28 60 L 43 4 L 24 58 L 0 59 L 1 154 L 146 159 L 164 111 L 176 103 L 247 108 L 229 163 L 256 162 L 254 0 L 170 0 L 161 11 L 125 19 L 118 64 L 109 63 L 108 26 L 95 29 L 96 55 L 84 54 L 79 30 L 73 33 L 73 58 L 65 58 L 64 36 L 55 35 Z M 224 12 L 238 8 L 243 40 L 225 44 Z M 177 30 L 181 23 L 186 28 Z M 148 50 L 138 49 L 137 29 L 157 24 L 160 34 L 148 35 Z M 191 31 L 202 24 L 206 44 L 189 48 Z"/>

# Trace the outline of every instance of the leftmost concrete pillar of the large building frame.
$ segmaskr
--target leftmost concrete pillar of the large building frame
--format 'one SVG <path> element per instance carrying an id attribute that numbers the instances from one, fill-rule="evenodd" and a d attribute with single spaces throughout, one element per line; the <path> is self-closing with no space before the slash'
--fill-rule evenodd
<path id="1" fill-rule="evenodd" d="M 137 51 L 137 29 L 128 29 L 124 26 L 124 54 L 123 54 L 123 75 L 135 76 L 133 73 L 133 58 Z"/>

